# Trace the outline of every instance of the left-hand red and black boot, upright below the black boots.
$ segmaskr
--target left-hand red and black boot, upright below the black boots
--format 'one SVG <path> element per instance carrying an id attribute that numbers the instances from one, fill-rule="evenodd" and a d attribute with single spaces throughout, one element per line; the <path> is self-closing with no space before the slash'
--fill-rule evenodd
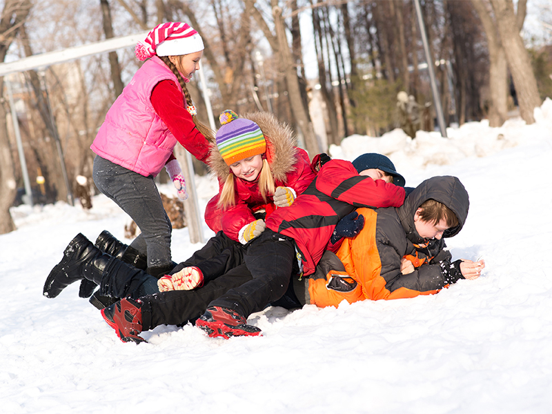
<path id="1" fill-rule="evenodd" d="M 142 331 L 142 302 L 140 299 L 133 300 L 130 297 L 121 299 L 119 302 L 101 310 L 101 316 L 106 319 L 109 326 L 115 329 L 117 336 L 123 342 L 147 342 L 139 337 Z"/>

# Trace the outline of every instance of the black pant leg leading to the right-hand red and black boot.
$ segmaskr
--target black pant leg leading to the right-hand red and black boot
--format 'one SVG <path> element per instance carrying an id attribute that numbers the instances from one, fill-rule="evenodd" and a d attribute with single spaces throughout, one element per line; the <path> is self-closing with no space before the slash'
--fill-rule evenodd
<path id="1" fill-rule="evenodd" d="M 280 299 L 286 291 L 293 292 L 290 278 L 299 266 L 295 241 L 268 228 L 246 248 L 244 262 L 252 278 L 228 290 L 209 306 L 230 308 L 247 318 Z"/>

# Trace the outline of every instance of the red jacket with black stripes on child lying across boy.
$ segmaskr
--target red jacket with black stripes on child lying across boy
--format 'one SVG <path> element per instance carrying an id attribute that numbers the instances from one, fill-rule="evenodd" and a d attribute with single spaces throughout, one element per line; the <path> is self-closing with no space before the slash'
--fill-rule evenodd
<path id="1" fill-rule="evenodd" d="M 349 161 L 333 159 L 293 204 L 278 208 L 266 227 L 295 239 L 302 256 L 303 274 L 315 271 L 337 221 L 356 207 L 399 207 L 404 188 L 358 175 Z"/>

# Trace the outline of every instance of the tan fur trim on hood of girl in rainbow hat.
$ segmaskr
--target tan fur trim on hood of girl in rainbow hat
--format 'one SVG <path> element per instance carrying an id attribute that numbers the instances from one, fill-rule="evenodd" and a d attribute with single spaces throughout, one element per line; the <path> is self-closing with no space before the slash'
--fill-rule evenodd
<path id="1" fill-rule="evenodd" d="M 261 128 L 266 139 L 268 165 L 275 181 L 284 181 L 288 172 L 295 170 L 297 137 L 290 126 L 280 122 L 270 112 L 246 112 L 240 118 L 250 119 Z M 208 167 L 221 181 L 230 175 L 230 167 L 221 157 L 217 144 L 211 145 Z"/>

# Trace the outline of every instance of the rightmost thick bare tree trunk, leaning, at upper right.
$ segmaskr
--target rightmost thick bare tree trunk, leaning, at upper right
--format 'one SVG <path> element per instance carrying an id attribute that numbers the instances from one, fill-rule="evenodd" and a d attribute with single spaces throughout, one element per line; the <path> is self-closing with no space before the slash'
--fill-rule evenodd
<path id="1" fill-rule="evenodd" d="M 527 124 L 533 124 L 533 110 L 542 102 L 531 59 L 518 30 L 519 23 L 513 12 L 513 3 L 511 0 L 491 0 L 491 4 L 517 92 L 517 101 L 520 103 L 520 115 Z"/>

